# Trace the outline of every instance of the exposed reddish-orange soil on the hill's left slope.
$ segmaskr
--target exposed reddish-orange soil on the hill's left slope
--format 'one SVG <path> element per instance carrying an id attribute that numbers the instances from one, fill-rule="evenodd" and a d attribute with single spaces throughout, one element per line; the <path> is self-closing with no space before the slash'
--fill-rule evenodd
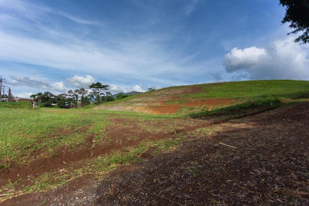
<path id="1" fill-rule="evenodd" d="M 212 109 L 220 106 L 232 105 L 235 103 L 234 99 L 202 99 L 196 100 L 190 97 L 181 96 L 191 93 L 198 93 L 203 91 L 203 85 L 189 85 L 173 87 L 173 89 L 160 89 L 143 95 L 142 97 L 135 97 L 133 99 L 113 102 L 112 106 L 101 105 L 94 109 L 96 110 L 112 110 L 112 111 L 132 111 L 154 115 L 168 115 L 175 114 L 186 107 L 201 107 L 203 109 Z M 178 102 L 179 101 L 179 102 Z"/>

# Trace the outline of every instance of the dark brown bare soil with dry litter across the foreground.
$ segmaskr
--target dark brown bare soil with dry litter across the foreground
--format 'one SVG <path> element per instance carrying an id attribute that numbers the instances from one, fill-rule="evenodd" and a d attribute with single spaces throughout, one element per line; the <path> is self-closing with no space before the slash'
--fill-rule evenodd
<path id="1" fill-rule="evenodd" d="M 2 199 L 0 205 L 309 205 L 309 102 L 228 122 L 183 119 L 175 125 L 181 128 L 177 131 L 169 129 L 173 124 L 176 123 L 139 124 L 115 118 L 109 128 L 111 142 L 91 147 L 92 138 L 88 137 L 79 150 L 59 148 L 64 151 L 62 156 L 37 157 L 31 162 L 33 165 L 2 169 L 0 186 L 18 176 L 24 179 L 17 183 L 22 188 L 32 184 L 32 176 L 62 168 L 61 162 L 78 166 L 82 159 L 137 145 L 143 139 L 179 133 L 185 139 L 168 153 L 155 154 L 154 145 L 141 155 L 140 162 L 119 166 L 99 180 L 93 174 L 85 174 L 46 192 L 18 195 L 18 191 L 10 191 L 15 195 Z M 34 173 L 42 165 L 46 166 Z"/>

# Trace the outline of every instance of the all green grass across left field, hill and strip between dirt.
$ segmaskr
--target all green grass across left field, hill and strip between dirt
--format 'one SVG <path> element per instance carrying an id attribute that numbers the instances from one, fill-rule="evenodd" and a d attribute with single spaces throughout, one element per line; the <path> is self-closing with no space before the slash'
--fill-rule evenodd
<path id="1" fill-rule="evenodd" d="M 285 102 L 301 101 L 309 98 L 308 81 L 248 81 L 248 82 L 222 82 L 212 84 L 200 84 L 201 89 L 197 92 L 183 93 L 180 90 L 188 89 L 190 86 L 169 87 L 156 91 L 149 91 L 139 95 L 108 103 L 126 104 L 128 102 L 151 101 L 151 98 L 165 98 L 167 96 L 177 96 L 178 103 L 186 100 L 202 99 L 237 99 L 239 103 L 225 108 L 213 109 L 212 111 L 199 111 L 194 114 L 174 114 L 174 115 L 149 115 L 133 112 L 119 112 L 106 110 L 93 110 L 93 106 L 77 109 L 55 109 L 37 108 L 32 109 L 32 104 L 27 102 L 1 102 L 0 103 L 0 168 L 9 167 L 12 163 L 21 164 L 32 161 L 31 155 L 40 151 L 50 157 L 56 156 L 56 149 L 62 146 L 75 147 L 83 144 L 85 138 L 92 136 L 94 142 L 100 143 L 106 140 L 107 129 L 111 120 L 121 117 L 122 119 L 134 119 L 143 129 L 157 129 L 153 125 L 148 125 L 147 121 L 173 120 L 181 121 L 182 118 L 212 116 L 212 115 L 237 115 L 245 113 L 251 108 L 251 101 L 257 103 L 257 107 L 263 108 L 270 105 L 271 101 L 276 102 L 276 106 L 284 106 Z M 170 100 L 169 104 L 171 104 Z M 172 122 L 172 121 L 171 121 Z M 174 131 L 177 125 L 166 125 L 160 128 Z M 135 136 L 132 136 L 134 139 Z M 135 148 L 126 148 L 124 153 L 115 153 L 108 156 L 100 156 L 89 166 L 80 170 L 75 170 L 72 176 L 78 176 L 78 172 L 96 171 L 103 172 L 114 168 L 115 165 L 127 164 L 136 161 L 136 154 L 141 154 L 152 145 L 160 148 L 160 151 L 167 150 L 173 145 L 181 143 L 181 136 L 176 140 L 166 139 L 165 141 L 144 141 Z M 46 177 L 46 175 L 48 177 Z M 50 179 L 52 174 L 45 174 L 38 178 L 38 182 L 43 184 L 46 179 Z M 67 177 L 69 178 L 69 177 Z M 48 181 L 47 181 L 48 182 Z M 35 188 L 46 188 L 38 184 Z M 46 183 L 48 184 L 48 183 Z M 52 187 L 52 186 L 50 186 Z M 29 188 L 28 188 L 29 189 Z M 30 190 L 30 189 L 29 189 Z"/>

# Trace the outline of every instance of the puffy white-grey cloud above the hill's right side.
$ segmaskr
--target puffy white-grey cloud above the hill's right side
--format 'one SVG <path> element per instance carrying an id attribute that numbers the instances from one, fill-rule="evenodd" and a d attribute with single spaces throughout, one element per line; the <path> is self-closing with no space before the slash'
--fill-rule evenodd
<path id="1" fill-rule="evenodd" d="M 233 48 L 224 59 L 226 72 L 237 80 L 309 80 L 308 46 L 285 38 L 264 48 Z"/>

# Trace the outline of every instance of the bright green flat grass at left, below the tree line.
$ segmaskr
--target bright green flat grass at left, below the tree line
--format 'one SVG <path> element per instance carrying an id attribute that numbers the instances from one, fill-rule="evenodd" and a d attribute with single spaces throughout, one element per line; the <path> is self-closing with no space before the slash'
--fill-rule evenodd
<path id="1" fill-rule="evenodd" d="M 55 148 L 83 143 L 90 134 L 100 139 L 109 124 L 101 112 L 80 110 L 2 108 L 0 116 L 0 167 L 27 161 L 37 150 L 52 155 Z"/>

